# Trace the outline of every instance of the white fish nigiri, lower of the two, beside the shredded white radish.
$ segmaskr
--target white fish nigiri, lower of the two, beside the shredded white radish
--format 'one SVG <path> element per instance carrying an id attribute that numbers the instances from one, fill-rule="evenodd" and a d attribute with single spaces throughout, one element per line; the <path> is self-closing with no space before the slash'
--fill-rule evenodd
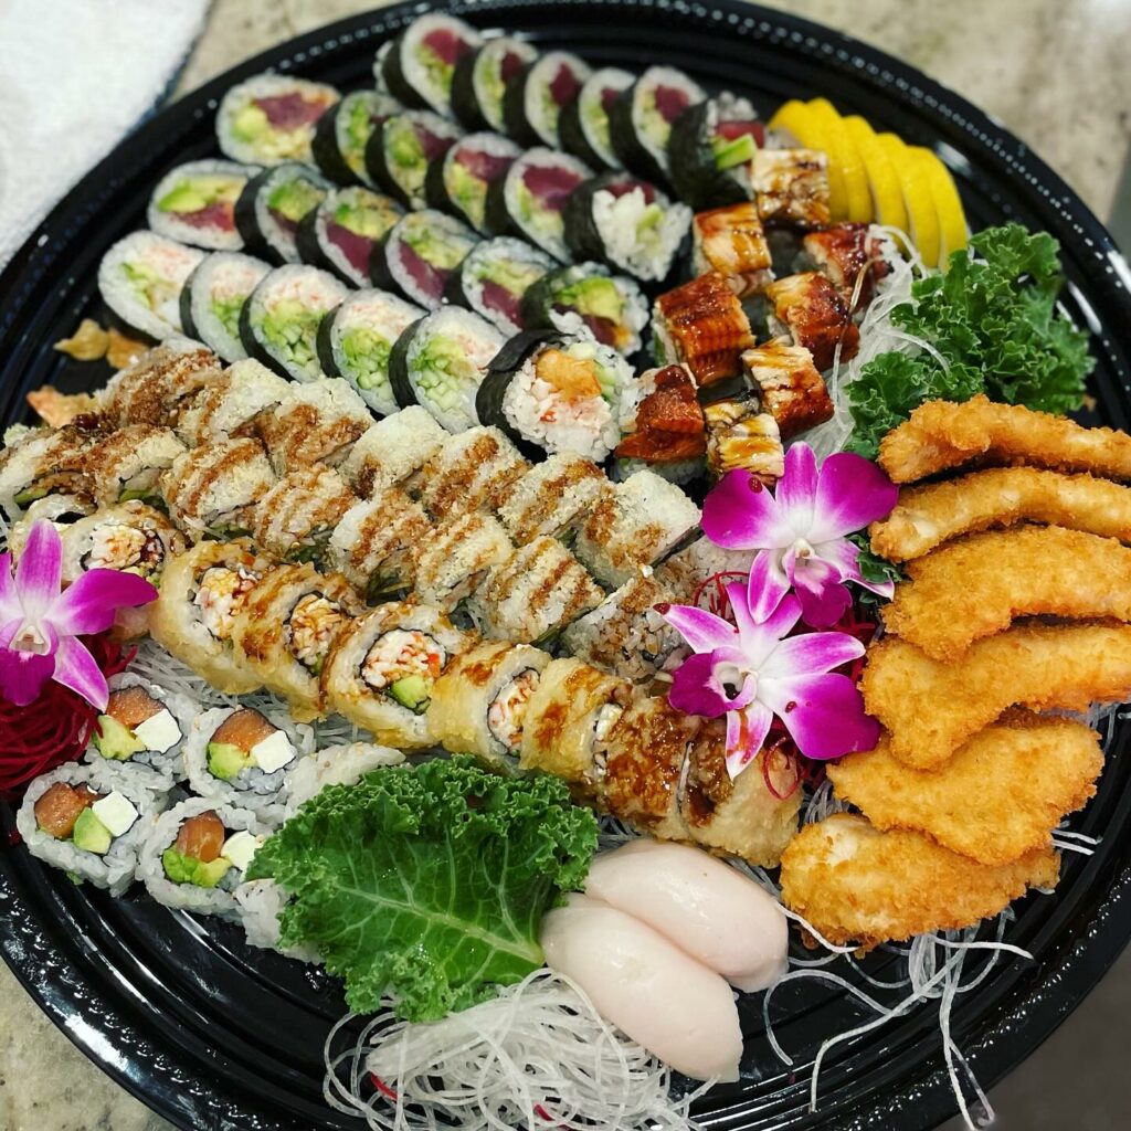
<path id="1" fill-rule="evenodd" d="M 587 896 L 542 921 L 546 965 L 597 1012 L 684 1076 L 737 1080 L 742 1030 L 726 982 L 650 926 Z"/>

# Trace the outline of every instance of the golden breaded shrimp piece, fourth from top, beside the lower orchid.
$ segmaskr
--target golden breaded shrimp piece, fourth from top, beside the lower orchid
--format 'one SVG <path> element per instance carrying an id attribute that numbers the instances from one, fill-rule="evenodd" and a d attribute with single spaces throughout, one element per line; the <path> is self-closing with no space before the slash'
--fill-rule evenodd
<path id="1" fill-rule="evenodd" d="M 1131 628 L 1017 625 L 953 663 L 889 636 L 869 650 L 861 689 L 891 735 L 891 752 L 915 769 L 938 769 L 1007 707 L 1082 711 L 1126 700 Z"/>

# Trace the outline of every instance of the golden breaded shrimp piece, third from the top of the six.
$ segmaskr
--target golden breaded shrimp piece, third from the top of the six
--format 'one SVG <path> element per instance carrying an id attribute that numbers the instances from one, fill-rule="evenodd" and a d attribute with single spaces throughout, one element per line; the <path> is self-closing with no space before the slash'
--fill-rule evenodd
<path id="1" fill-rule="evenodd" d="M 907 572 L 883 623 L 932 659 L 958 659 L 1018 616 L 1131 621 L 1131 550 L 1061 526 L 972 534 Z"/>

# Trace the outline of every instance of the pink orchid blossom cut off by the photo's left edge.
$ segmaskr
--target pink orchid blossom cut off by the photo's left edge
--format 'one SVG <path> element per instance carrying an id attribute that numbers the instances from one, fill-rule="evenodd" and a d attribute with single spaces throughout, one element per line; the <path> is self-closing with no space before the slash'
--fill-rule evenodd
<path id="1" fill-rule="evenodd" d="M 133 573 L 93 569 L 60 592 L 62 542 L 46 520 L 32 527 L 15 576 L 0 554 L 0 693 L 17 707 L 54 680 L 104 710 L 106 677 L 77 639 L 103 632 L 121 607 L 154 601 L 157 590 Z"/>

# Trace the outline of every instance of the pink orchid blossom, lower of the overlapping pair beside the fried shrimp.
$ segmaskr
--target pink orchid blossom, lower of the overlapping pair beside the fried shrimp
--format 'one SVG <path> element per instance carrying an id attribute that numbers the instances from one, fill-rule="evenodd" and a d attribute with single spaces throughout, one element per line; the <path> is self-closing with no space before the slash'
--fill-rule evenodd
<path id="1" fill-rule="evenodd" d="M 675 672 L 668 701 L 689 715 L 726 715 L 726 768 L 737 777 L 761 750 L 776 715 L 806 758 L 871 750 L 880 725 L 847 675 L 832 668 L 864 654 L 847 632 L 789 636 L 801 602 L 784 597 L 765 621 L 754 619 L 745 586 L 726 587 L 736 624 L 691 605 L 664 618 L 694 655 Z"/>

